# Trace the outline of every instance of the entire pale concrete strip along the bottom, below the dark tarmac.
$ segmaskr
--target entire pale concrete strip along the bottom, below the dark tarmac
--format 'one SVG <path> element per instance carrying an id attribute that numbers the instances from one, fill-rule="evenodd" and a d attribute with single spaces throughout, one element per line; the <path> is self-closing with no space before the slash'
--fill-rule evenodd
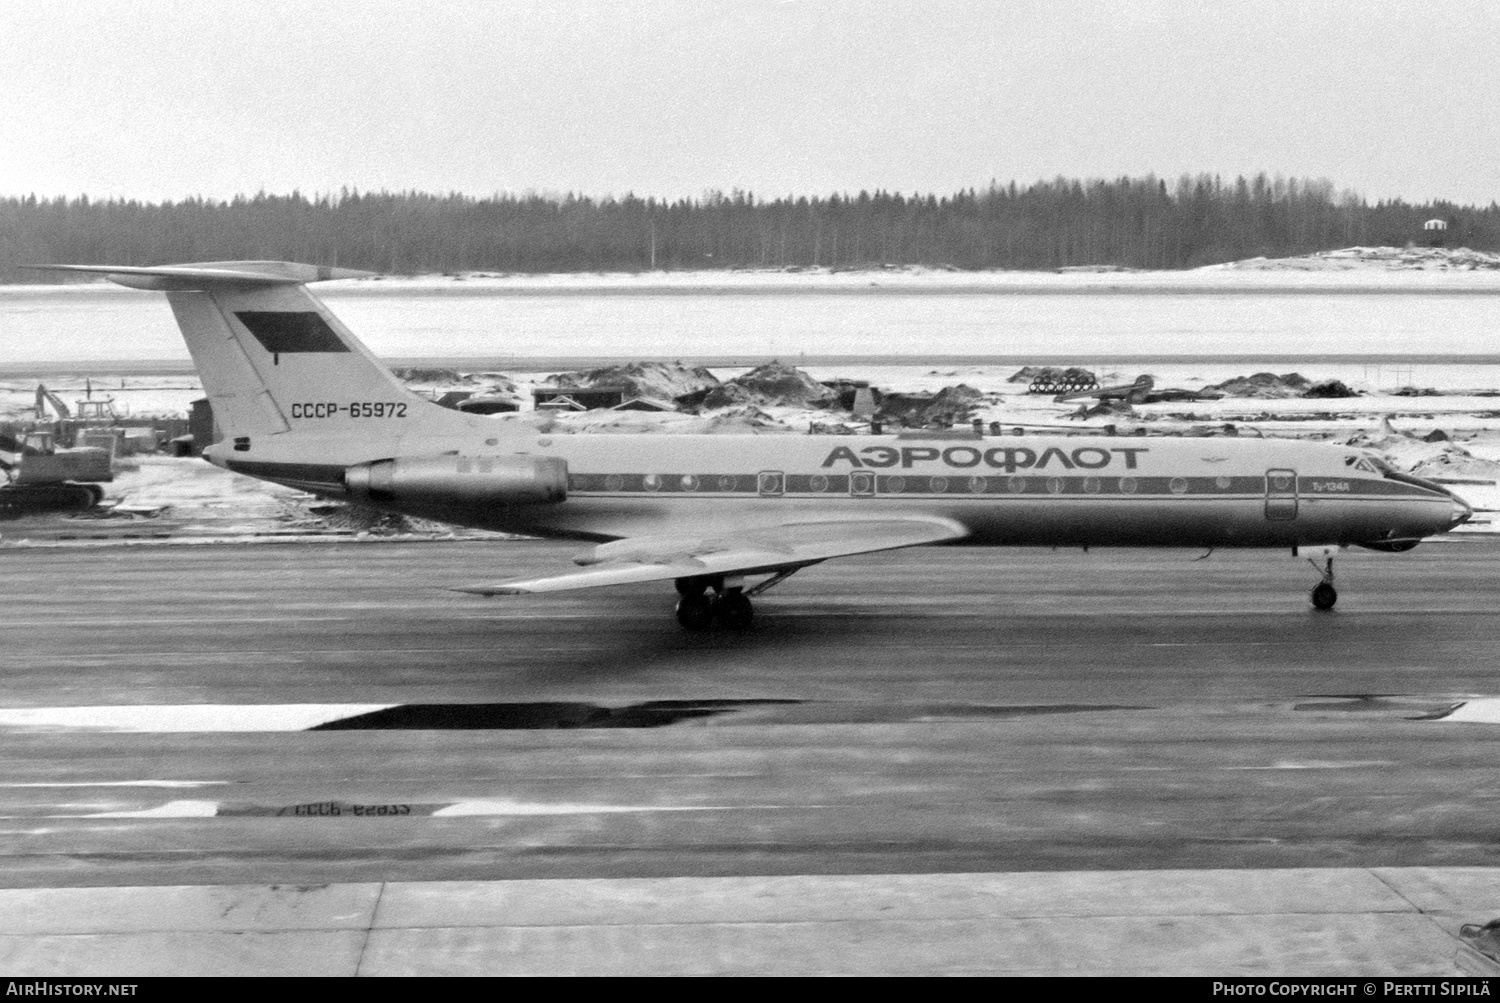
<path id="1" fill-rule="evenodd" d="M 10 889 L 0 970 L 1454 975 L 1456 922 L 1428 906 L 1494 888 L 1500 868 Z"/>

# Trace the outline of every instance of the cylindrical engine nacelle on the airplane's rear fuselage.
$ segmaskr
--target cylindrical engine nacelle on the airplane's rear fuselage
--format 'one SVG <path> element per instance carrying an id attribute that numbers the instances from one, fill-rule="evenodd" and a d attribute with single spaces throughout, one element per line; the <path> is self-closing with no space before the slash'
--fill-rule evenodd
<path id="1" fill-rule="evenodd" d="M 556 456 L 404 456 L 344 471 L 356 501 L 372 505 L 546 505 L 567 499 Z"/>

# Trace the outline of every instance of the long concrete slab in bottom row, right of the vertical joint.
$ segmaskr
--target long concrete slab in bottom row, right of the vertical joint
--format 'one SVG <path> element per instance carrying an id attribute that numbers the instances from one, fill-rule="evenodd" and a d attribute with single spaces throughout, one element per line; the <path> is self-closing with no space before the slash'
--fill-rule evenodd
<path id="1" fill-rule="evenodd" d="M 376 930 L 362 975 L 1454 975 L 1416 915 Z"/>

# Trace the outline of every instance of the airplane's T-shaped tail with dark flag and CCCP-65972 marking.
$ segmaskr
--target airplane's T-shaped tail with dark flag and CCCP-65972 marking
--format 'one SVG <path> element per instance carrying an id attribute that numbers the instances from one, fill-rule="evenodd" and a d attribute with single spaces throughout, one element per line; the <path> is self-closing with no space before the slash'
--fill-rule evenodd
<path id="1" fill-rule="evenodd" d="M 166 292 L 214 420 L 228 436 L 292 429 L 369 436 L 382 427 L 405 435 L 465 426 L 462 414 L 402 385 L 304 285 L 368 271 L 288 261 L 46 267 L 96 271 L 120 285 Z"/>

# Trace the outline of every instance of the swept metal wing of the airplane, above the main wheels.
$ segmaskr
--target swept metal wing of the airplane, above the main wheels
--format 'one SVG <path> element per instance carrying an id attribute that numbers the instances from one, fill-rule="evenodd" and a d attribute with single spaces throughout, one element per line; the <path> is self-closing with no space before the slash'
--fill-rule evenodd
<path id="1" fill-rule="evenodd" d="M 918 547 L 960 540 L 969 531 L 939 517 L 840 519 L 783 523 L 720 537 L 634 537 L 600 544 L 578 558 L 582 571 L 544 579 L 520 579 L 468 585 L 458 592 L 476 595 L 520 595 L 562 592 L 604 585 L 663 582 L 720 574 L 772 574 L 802 568 L 830 558 Z"/>

